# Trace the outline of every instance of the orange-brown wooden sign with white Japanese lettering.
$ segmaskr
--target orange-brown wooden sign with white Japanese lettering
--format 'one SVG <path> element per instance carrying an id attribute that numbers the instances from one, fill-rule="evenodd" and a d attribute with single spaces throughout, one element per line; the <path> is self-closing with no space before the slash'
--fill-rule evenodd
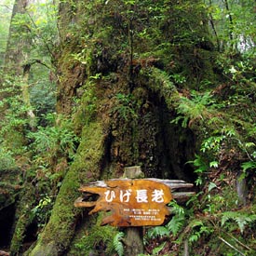
<path id="1" fill-rule="evenodd" d="M 93 208 L 89 214 L 110 212 L 101 225 L 113 226 L 161 225 L 173 198 L 170 187 L 156 179 L 91 182 L 79 191 L 84 195 L 75 200 L 74 206 Z"/>

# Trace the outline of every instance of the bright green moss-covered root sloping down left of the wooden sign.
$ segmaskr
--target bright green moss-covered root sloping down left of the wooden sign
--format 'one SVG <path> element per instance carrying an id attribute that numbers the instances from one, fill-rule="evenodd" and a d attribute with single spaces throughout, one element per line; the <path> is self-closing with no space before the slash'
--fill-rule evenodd
<path id="1" fill-rule="evenodd" d="M 82 182 L 97 180 L 100 177 L 103 153 L 101 123 L 93 122 L 84 128 L 82 142 L 74 163 L 62 182 L 50 220 L 29 255 L 62 255 L 69 248 L 79 214 L 79 210 L 74 208 L 78 188 Z"/>

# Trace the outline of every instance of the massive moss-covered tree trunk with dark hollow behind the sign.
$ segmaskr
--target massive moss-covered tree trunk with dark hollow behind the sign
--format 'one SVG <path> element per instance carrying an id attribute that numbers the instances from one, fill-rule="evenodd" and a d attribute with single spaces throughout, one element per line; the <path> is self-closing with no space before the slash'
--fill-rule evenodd
<path id="1" fill-rule="evenodd" d="M 95 227 L 74 209 L 82 183 L 120 177 L 133 165 L 146 177 L 193 179 L 185 163 L 194 134 L 171 121 L 186 87 L 214 78 L 205 10 L 195 0 L 134 2 L 61 2 L 57 109 L 73 119 L 81 142 L 27 255 L 89 254 L 81 241 Z"/>

